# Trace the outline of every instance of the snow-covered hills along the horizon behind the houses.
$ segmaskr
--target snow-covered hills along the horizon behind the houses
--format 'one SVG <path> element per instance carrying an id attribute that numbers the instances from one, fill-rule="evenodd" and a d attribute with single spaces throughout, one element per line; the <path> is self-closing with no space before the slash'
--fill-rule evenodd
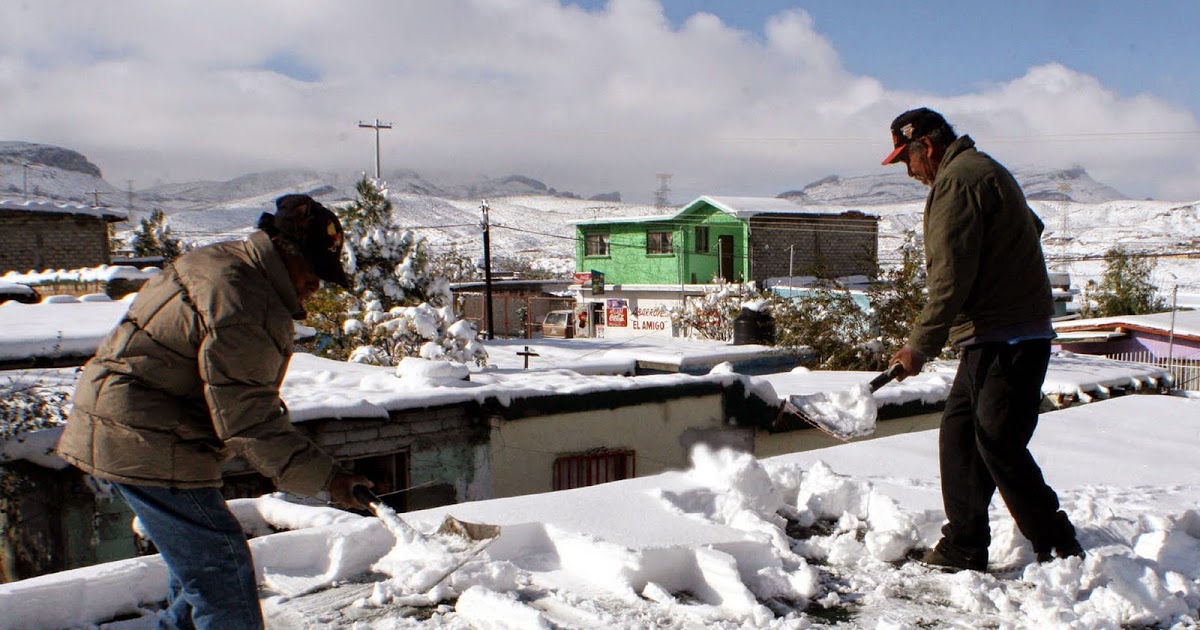
<path id="1" fill-rule="evenodd" d="M 1200 254 L 1194 253 L 1200 252 L 1200 210 L 1194 200 L 1129 200 L 1081 168 L 1021 169 L 1014 175 L 1046 224 L 1048 264 L 1070 272 L 1075 287 L 1099 278 L 1104 263 L 1097 257 L 1120 245 L 1135 253 L 1180 256 L 1159 258 L 1154 281 L 1164 293 L 1178 286 L 1200 295 Z M 106 205 L 132 206 L 130 222 L 119 228 L 124 234 L 161 209 L 178 238 L 197 244 L 248 233 L 258 215 L 272 210 L 274 199 L 283 193 L 306 192 L 325 204 L 348 202 L 360 178 L 361 173 L 349 170 L 275 170 L 228 181 L 158 185 L 133 191 L 131 197 L 130 191 L 104 181 L 101 169 L 76 151 L 0 142 L 0 197 L 19 198 L 28 188 L 30 197 L 85 204 L 98 197 Z M 384 173 L 384 180 L 401 224 L 418 230 L 434 247 L 454 246 L 481 258 L 480 205 L 487 199 L 493 258 L 517 257 L 563 274 L 575 264 L 572 221 L 664 211 L 623 203 L 619 193 L 582 199 L 522 175 L 434 181 L 414 170 L 394 169 Z M 800 206 L 848 206 L 880 216 L 880 258 L 888 263 L 899 259 L 898 248 L 906 238 L 920 234 L 926 192 L 894 169 L 854 178 L 830 175 L 779 197 Z M 720 185 L 714 184 L 710 193 L 719 196 Z"/>

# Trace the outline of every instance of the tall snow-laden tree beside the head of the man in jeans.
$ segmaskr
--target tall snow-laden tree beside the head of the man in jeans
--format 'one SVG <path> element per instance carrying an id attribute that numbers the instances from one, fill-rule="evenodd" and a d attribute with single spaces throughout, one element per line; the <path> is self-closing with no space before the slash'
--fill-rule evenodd
<path id="1" fill-rule="evenodd" d="M 359 296 L 359 308 L 342 325 L 342 334 L 356 344 L 348 360 L 485 362 L 478 330 L 457 319 L 449 280 L 434 272 L 425 239 L 395 222 L 383 182 L 362 178 L 356 191 L 358 198 L 338 212 L 346 230 L 346 272 Z"/>

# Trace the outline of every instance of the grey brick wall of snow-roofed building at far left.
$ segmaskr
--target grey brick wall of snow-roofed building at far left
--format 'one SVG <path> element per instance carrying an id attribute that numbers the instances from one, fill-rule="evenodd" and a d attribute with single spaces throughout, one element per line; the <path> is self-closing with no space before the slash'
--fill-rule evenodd
<path id="1" fill-rule="evenodd" d="M 0 274 L 107 265 L 104 220 L 86 215 L 0 210 Z"/>

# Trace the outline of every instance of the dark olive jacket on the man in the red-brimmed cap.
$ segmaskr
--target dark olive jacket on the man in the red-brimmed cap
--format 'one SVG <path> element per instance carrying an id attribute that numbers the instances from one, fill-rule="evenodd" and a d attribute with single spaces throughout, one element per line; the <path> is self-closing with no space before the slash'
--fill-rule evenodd
<path id="1" fill-rule="evenodd" d="M 946 344 L 1054 314 L 1042 221 L 1013 175 L 964 136 L 952 143 L 925 200 L 929 301 L 908 336 L 926 358 Z"/>

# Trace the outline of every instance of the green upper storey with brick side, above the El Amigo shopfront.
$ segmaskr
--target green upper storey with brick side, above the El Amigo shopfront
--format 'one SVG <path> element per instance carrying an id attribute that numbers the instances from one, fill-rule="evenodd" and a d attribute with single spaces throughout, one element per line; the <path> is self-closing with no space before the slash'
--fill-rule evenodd
<path id="1" fill-rule="evenodd" d="M 874 275 L 878 217 L 772 197 L 700 197 L 673 215 L 575 223 L 576 271 L 605 284 Z"/>

